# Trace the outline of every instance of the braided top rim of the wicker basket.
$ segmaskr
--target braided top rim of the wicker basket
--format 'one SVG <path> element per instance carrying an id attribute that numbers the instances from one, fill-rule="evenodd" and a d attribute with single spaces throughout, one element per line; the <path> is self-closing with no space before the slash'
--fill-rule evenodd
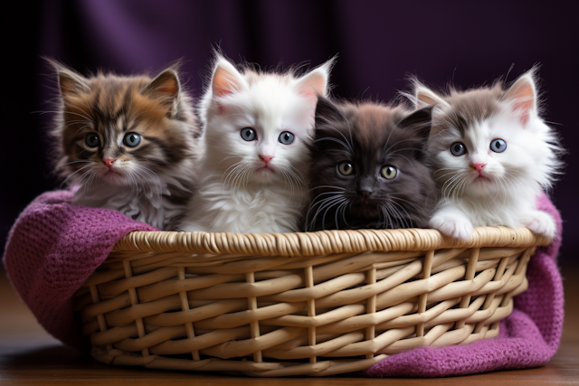
<path id="1" fill-rule="evenodd" d="M 112 252 L 185 252 L 247 256 L 319 256 L 365 251 L 420 251 L 446 248 L 517 248 L 553 242 L 527 228 L 475 227 L 468 240 L 432 229 L 345 230 L 295 233 L 133 231 Z"/>

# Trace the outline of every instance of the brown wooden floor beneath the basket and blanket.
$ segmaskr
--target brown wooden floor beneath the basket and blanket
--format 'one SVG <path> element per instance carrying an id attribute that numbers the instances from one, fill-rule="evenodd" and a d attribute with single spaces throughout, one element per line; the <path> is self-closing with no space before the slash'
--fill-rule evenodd
<path id="1" fill-rule="evenodd" d="M 579 266 L 562 270 L 565 276 L 565 327 L 563 341 L 553 360 L 537 369 L 491 372 L 442 379 L 251 379 L 218 374 L 164 372 L 117 368 L 95 362 L 87 354 L 71 350 L 36 323 L 31 312 L 10 287 L 0 270 L 0 385 L 106 384 L 164 385 L 263 385 L 298 382 L 306 385 L 577 385 L 579 384 Z"/>

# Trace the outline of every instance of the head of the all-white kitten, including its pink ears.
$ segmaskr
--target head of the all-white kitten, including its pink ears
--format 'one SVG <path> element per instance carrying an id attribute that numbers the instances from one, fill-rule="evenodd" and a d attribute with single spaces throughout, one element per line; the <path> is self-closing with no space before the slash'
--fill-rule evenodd
<path id="1" fill-rule="evenodd" d="M 327 69 L 289 74 L 238 72 L 218 61 L 206 109 L 207 165 L 234 187 L 303 185 L 314 127 L 315 92 L 325 93 Z"/>

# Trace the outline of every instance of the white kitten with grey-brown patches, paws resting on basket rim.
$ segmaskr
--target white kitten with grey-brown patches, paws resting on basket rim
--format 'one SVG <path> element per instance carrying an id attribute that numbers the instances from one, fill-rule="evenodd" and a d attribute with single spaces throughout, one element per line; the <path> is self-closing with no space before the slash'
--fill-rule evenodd
<path id="1" fill-rule="evenodd" d="M 417 106 L 436 104 L 429 153 L 442 198 L 432 228 L 460 240 L 493 225 L 555 236 L 535 200 L 553 182 L 560 146 L 539 117 L 534 78 L 532 70 L 508 89 L 497 82 L 445 96 L 416 83 Z"/>

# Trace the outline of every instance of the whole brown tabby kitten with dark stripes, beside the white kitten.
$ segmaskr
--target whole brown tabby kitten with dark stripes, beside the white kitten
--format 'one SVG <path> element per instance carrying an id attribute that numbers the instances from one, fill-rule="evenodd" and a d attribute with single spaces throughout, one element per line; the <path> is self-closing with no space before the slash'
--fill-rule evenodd
<path id="1" fill-rule="evenodd" d="M 176 66 L 154 80 L 85 78 L 49 62 L 62 96 L 52 130 L 57 173 L 75 190 L 73 201 L 166 229 L 191 195 L 199 135 Z"/>

